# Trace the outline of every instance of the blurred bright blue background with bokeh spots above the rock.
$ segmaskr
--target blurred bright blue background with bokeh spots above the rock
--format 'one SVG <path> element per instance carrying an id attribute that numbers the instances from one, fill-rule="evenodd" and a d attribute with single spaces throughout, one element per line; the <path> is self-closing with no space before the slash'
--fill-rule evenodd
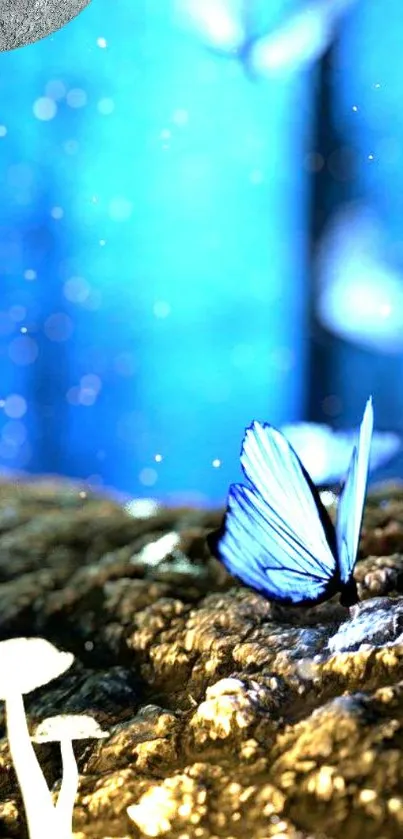
<path id="1" fill-rule="evenodd" d="M 402 36 L 93 0 L 0 55 L 3 469 L 217 503 L 253 418 L 401 430 Z"/>

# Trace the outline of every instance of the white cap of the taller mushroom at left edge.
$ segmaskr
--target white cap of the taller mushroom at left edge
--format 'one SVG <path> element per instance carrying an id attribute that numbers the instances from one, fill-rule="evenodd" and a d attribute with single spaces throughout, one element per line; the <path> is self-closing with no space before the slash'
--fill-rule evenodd
<path id="1" fill-rule="evenodd" d="M 72 653 L 62 653 L 44 638 L 0 641 L 0 699 L 29 693 L 71 667 Z"/>

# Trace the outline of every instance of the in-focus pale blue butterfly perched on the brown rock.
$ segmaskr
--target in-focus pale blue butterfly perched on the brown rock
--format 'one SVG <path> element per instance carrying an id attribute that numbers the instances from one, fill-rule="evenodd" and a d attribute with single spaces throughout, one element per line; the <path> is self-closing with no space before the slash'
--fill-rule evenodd
<path id="1" fill-rule="evenodd" d="M 357 603 L 353 577 L 368 476 L 374 415 L 367 402 L 334 527 L 318 490 L 280 431 L 253 422 L 241 464 L 251 487 L 233 484 L 212 553 L 227 570 L 270 600 L 314 605 L 340 592 Z"/>

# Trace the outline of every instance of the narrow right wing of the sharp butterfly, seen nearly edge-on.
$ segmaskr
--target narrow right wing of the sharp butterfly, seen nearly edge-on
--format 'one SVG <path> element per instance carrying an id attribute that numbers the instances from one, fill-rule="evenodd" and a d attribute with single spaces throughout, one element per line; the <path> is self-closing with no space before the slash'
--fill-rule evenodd
<path id="1" fill-rule="evenodd" d="M 349 581 L 357 557 L 373 426 L 374 411 L 372 398 L 370 398 L 365 407 L 358 444 L 353 449 L 346 482 L 337 508 L 336 538 L 340 578 L 343 583 Z"/>

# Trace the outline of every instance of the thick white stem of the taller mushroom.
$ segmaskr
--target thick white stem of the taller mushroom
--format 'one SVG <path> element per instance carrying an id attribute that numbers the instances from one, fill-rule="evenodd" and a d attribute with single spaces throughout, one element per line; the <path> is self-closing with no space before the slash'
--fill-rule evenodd
<path id="1" fill-rule="evenodd" d="M 24 802 L 30 839 L 55 839 L 52 796 L 32 746 L 22 694 L 6 697 L 7 736 Z"/>

